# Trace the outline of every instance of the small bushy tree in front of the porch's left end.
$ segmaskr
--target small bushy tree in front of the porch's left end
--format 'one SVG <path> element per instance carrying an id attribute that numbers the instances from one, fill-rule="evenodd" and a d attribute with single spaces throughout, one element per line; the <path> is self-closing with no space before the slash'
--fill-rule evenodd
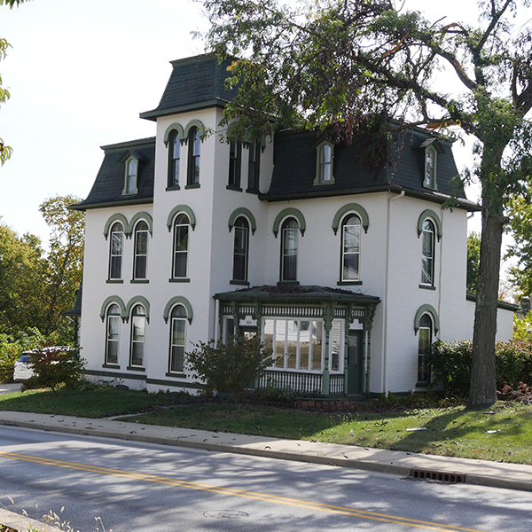
<path id="1" fill-rule="evenodd" d="M 187 353 L 187 364 L 207 390 L 232 394 L 240 413 L 240 400 L 246 388 L 253 385 L 271 365 L 271 349 L 264 348 L 259 337 L 231 338 L 227 343 L 211 340 L 194 344 Z"/>

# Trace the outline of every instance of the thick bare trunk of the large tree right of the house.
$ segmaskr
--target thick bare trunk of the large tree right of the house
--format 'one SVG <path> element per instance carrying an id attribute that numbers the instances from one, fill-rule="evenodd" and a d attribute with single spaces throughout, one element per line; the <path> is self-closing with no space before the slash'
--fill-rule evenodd
<path id="1" fill-rule="evenodd" d="M 473 328 L 473 361 L 467 406 L 478 408 L 497 401 L 495 336 L 497 295 L 504 218 L 482 212 L 481 263 L 476 285 Z"/>

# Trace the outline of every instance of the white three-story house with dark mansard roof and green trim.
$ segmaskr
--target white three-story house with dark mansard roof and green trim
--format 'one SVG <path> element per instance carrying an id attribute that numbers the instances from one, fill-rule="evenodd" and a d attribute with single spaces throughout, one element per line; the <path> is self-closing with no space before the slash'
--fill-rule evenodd
<path id="1" fill-rule="evenodd" d="M 356 144 L 279 131 L 226 143 L 234 97 L 214 55 L 172 63 L 155 137 L 103 146 L 86 200 L 82 354 L 88 373 L 150 390 L 198 389 L 192 343 L 258 333 L 275 352 L 259 386 L 324 396 L 423 389 L 423 348 L 471 338 L 467 213 L 443 209 L 450 143 L 390 140 L 370 171 Z M 512 336 L 511 305 L 497 337 Z"/>

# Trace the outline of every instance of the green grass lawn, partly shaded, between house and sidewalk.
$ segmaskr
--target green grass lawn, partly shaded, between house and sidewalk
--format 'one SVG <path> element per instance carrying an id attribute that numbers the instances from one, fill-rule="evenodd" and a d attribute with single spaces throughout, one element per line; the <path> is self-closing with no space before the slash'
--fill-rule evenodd
<path id="1" fill-rule="evenodd" d="M 379 413 L 317 413 L 245 403 L 238 416 L 234 404 L 110 388 L 59 390 L 57 398 L 44 390 L 0 395 L 2 410 L 88 418 L 141 412 L 124 420 L 532 465 L 532 406 L 518 403 L 497 403 L 489 412 L 458 406 Z"/>

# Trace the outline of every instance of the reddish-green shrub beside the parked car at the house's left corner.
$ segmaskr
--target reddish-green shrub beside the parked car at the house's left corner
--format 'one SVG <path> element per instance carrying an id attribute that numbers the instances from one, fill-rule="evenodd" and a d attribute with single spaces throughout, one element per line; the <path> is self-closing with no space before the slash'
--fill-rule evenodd
<path id="1" fill-rule="evenodd" d="M 31 353 L 31 359 L 34 375 L 27 379 L 23 388 L 49 387 L 54 395 L 61 385 L 74 387 L 85 365 L 73 348 L 38 348 Z"/>

